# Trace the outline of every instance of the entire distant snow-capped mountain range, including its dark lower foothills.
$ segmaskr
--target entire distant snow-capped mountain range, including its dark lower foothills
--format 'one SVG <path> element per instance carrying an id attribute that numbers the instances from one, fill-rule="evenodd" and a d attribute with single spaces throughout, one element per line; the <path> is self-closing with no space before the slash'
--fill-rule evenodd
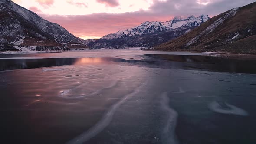
<path id="1" fill-rule="evenodd" d="M 94 49 L 103 47 L 143 47 L 155 46 L 167 40 L 174 39 L 187 33 L 191 29 L 200 26 L 210 18 L 207 15 L 198 17 L 174 17 L 166 22 L 149 22 L 141 23 L 139 26 L 131 29 L 120 30 L 116 33 L 111 33 L 98 40 L 88 39 L 84 42 Z"/>

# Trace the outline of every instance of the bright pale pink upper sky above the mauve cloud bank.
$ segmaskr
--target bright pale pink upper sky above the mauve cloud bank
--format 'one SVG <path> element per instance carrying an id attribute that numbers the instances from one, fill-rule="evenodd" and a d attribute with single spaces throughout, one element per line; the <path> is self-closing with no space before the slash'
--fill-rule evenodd
<path id="1" fill-rule="evenodd" d="M 37 7 L 44 14 L 50 15 L 126 13 L 148 10 L 153 4 L 153 0 L 13 0 L 13 2 L 25 8 Z"/>

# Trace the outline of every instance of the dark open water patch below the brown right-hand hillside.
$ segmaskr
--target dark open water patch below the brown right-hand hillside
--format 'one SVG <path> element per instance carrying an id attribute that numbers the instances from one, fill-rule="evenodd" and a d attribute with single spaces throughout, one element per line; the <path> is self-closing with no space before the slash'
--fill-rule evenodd
<path id="1" fill-rule="evenodd" d="M 256 73 L 255 59 L 230 59 L 213 56 L 193 55 L 145 55 L 150 58 L 167 60 L 174 66 L 205 69 L 218 72 Z"/>

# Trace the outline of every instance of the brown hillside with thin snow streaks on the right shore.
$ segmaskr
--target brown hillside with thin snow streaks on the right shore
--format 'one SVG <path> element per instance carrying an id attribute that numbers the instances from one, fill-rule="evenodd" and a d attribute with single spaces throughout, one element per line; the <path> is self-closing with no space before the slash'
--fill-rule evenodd
<path id="1" fill-rule="evenodd" d="M 155 49 L 256 53 L 256 2 L 221 13 Z"/>

